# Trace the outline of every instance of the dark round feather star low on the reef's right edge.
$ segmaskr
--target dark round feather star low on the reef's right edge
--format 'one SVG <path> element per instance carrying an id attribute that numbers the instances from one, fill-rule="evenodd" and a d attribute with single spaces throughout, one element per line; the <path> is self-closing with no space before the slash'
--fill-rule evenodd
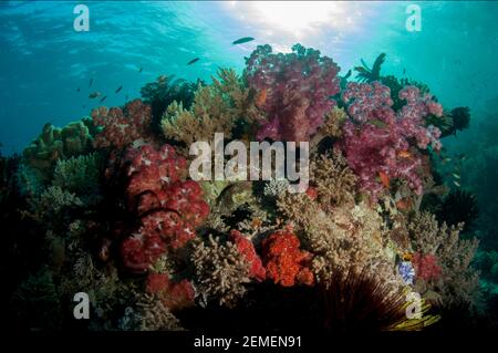
<path id="1" fill-rule="evenodd" d="M 476 196 L 465 190 L 455 190 L 448 194 L 437 212 L 437 220 L 445 221 L 448 226 L 465 222 L 464 231 L 473 228 L 479 216 Z"/>

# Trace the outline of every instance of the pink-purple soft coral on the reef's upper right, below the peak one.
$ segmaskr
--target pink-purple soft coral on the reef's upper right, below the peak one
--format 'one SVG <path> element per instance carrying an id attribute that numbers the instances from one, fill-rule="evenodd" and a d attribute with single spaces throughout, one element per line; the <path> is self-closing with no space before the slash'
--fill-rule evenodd
<path id="1" fill-rule="evenodd" d="M 385 180 L 401 178 L 416 194 L 422 194 L 421 167 L 424 157 L 417 150 L 440 148 L 440 132 L 424 125 L 427 114 L 440 115 L 440 104 L 429 95 L 419 95 L 414 86 L 400 92 L 407 103 L 397 113 L 391 107 L 390 89 L 378 82 L 350 83 L 343 93 L 351 121 L 344 124 L 344 152 L 361 185 L 376 198 Z M 415 146 L 414 146 L 415 144 Z M 384 181 L 384 183 L 382 183 Z"/>

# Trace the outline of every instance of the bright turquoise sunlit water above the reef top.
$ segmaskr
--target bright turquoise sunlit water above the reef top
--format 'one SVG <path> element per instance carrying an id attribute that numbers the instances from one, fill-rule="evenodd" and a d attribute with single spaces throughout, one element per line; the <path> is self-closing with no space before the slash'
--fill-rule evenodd
<path id="1" fill-rule="evenodd" d="M 261 43 L 317 48 L 342 74 L 385 52 L 383 73 L 427 83 L 446 106 L 477 112 L 498 95 L 498 2 L 409 2 L 422 9 L 422 31 L 408 32 L 407 2 L 85 1 L 90 31 L 76 32 L 80 2 L 0 2 L 3 154 L 21 152 L 46 122 L 89 115 L 101 105 L 91 92 L 122 105 L 160 74 L 209 80 L 220 66 L 241 71 Z M 231 45 L 241 37 L 256 40 Z"/>

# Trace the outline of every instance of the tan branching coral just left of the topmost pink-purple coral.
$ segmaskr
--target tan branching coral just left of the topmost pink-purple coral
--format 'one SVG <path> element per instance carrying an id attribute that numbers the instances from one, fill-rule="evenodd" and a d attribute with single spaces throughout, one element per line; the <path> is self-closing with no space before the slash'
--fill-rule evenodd
<path id="1" fill-rule="evenodd" d="M 258 110 L 251 101 L 249 90 L 234 70 L 220 70 L 214 84 L 199 86 L 190 108 L 174 102 L 162 120 L 164 136 L 184 143 L 187 148 L 194 142 L 214 139 L 215 133 L 230 138 L 238 120 L 252 120 Z"/>

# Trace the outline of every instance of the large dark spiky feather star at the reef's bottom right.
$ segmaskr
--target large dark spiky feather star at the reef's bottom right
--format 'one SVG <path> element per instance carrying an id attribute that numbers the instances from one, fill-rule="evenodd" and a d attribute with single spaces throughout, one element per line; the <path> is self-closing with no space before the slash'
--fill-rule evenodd
<path id="1" fill-rule="evenodd" d="M 367 268 L 335 270 L 321 291 L 325 326 L 331 331 L 421 330 L 438 318 L 406 318 L 406 292 L 393 289 Z M 425 313 L 428 307 L 423 304 Z"/>

